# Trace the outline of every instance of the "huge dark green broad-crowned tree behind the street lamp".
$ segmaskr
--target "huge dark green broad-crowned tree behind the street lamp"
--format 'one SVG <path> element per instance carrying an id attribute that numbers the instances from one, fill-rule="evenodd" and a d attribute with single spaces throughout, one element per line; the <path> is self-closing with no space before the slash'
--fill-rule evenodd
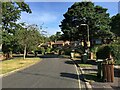
<path id="1" fill-rule="evenodd" d="M 90 39 L 111 37 L 110 18 L 107 9 L 95 6 L 92 2 L 74 3 L 63 15 L 61 29 L 66 40 L 86 40 L 87 26 L 89 26 Z"/>

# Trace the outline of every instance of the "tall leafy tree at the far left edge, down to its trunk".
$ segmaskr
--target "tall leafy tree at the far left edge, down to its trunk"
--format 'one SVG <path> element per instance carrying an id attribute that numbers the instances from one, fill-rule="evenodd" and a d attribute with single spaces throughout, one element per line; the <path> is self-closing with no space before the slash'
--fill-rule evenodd
<path id="1" fill-rule="evenodd" d="M 23 11 L 31 13 L 31 9 L 24 2 L 2 2 L 2 51 L 7 53 L 8 58 L 16 42 L 14 34 L 20 27 L 16 21 Z"/>

